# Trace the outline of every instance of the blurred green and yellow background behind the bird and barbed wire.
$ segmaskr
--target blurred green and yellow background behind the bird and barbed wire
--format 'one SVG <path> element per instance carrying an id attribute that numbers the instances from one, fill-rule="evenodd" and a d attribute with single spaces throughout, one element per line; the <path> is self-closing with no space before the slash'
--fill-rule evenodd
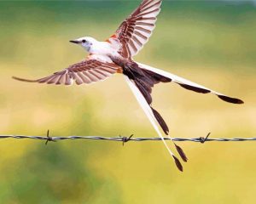
<path id="1" fill-rule="evenodd" d="M 17 82 L 86 54 L 68 41 L 105 40 L 137 1 L 1 2 L 0 133 L 156 137 L 121 75 L 90 86 Z M 224 103 L 173 83 L 154 88 L 172 137 L 249 138 L 256 131 L 253 1 L 164 1 L 136 60 L 245 101 Z M 1 203 L 253 203 L 254 142 L 178 143 L 180 173 L 161 142 L 1 139 Z"/>

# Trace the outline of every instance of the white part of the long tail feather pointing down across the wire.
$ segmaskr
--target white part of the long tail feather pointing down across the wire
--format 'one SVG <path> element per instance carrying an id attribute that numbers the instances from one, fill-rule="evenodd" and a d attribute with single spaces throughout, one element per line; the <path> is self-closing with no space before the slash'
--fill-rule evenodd
<path id="1" fill-rule="evenodd" d="M 145 114 L 148 116 L 149 121 L 151 122 L 151 124 L 154 127 L 154 130 L 156 131 L 156 133 L 158 133 L 158 135 L 160 136 L 160 139 L 162 139 L 162 141 L 164 142 L 166 149 L 169 151 L 169 153 L 171 154 L 172 158 L 174 156 L 174 154 L 172 153 L 172 150 L 170 150 L 170 148 L 168 147 L 168 145 L 166 144 L 166 140 L 164 139 L 164 137 L 162 136 L 162 134 L 160 133 L 160 129 L 157 126 L 157 122 L 154 118 L 154 114 L 151 111 L 150 106 L 148 105 L 146 99 L 144 99 L 143 94 L 140 93 L 140 91 L 138 90 L 138 88 L 136 87 L 136 85 L 128 78 L 125 76 L 125 81 L 128 83 L 129 87 L 131 88 L 132 93 L 135 95 L 137 102 L 139 103 L 139 105 L 141 105 L 141 107 L 143 108 L 143 111 L 145 112 Z"/>

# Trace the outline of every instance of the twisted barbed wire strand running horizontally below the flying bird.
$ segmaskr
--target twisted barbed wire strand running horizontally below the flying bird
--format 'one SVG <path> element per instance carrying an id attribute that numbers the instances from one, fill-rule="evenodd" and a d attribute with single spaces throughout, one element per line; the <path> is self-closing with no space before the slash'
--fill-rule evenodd
<path id="1" fill-rule="evenodd" d="M 177 142 L 198 142 L 198 143 L 205 143 L 205 142 L 242 142 L 242 141 L 256 141 L 256 138 L 232 138 L 232 139 L 214 139 L 209 138 L 210 133 L 207 134 L 207 137 L 199 137 L 199 138 L 172 138 L 173 141 Z M 67 137 L 50 137 L 49 130 L 47 131 L 46 136 L 27 136 L 27 135 L 0 135 L 0 139 L 39 139 L 45 140 L 45 144 L 48 142 L 56 142 L 61 140 L 73 140 L 73 139 L 90 139 L 90 140 L 110 140 L 110 141 L 118 141 L 122 142 L 123 145 L 126 142 L 133 141 L 133 142 L 143 142 L 143 141 L 160 141 L 160 138 L 133 138 L 133 134 L 129 137 L 121 136 L 118 137 L 102 137 L 102 136 L 67 136 Z M 170 138 L 164 138 L 166 140 L 170 140 Z"/>

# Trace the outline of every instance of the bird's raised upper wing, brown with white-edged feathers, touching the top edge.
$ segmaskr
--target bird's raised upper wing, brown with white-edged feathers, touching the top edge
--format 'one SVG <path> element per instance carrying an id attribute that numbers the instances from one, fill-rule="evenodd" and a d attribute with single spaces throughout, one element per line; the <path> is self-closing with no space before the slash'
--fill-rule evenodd
<path id="1" fill-rule="evenodd" d="M 136 55 L 148 42 L 154 30 L 156 16 L 160 13 L 162 0 L 143 0 L 143 3 L 119 26 L 110 37 L 121 44 L 119 53 L 125 58 Z"/>

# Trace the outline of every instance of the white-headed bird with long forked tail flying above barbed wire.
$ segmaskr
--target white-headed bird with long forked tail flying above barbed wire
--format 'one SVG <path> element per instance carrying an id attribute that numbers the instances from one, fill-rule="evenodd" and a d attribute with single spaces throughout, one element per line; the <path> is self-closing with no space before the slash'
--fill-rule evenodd
<path id="1" fill-rule="evenodd" d="M 172 139 L 165 120 L 152 106 L 153 100 L 151 93 L 154 85 L 157 83 L 175 82 L 182 88 L 201 94 L 214 94 L 219 99 L 229 103 L 243 104 L 243 101 L 225 94 L 220 94 L 183 77 L 177 77 L 170 72 L 149 65 L 143 65 L 133 59 L 143 49 L 143 46 L 152 35 L 158 14 L 160 14 L 161 4 L 162 0 L 143 0 L 107 40 L 98 41 L 93 37 L 79 37 L 71 40 L 70 42 L 79 45 L 87 51 L 88 56 L 82 61 L 70 65 L 62 71 L 57 71 L 48 77 L 36 80 L 20 77 L 13 78 L 22 82 L 56 85 L 72 85 L 75 82 L 80 85 L 103 81 L 112 77 L 114 74 L 123 75 L 132 93 L 135 95 L 137 102 L 164 142 L 178 170 L 183 171 L 181 161 L 179 161 L 171 148 L 166 144 L 160 131 L 159 127 Z M 173 142 L 173 144 L 175 143 Z M 188 161 L 183 149 L 177 144 L 175 144 L 175 147 L 182 160 Z"/>

